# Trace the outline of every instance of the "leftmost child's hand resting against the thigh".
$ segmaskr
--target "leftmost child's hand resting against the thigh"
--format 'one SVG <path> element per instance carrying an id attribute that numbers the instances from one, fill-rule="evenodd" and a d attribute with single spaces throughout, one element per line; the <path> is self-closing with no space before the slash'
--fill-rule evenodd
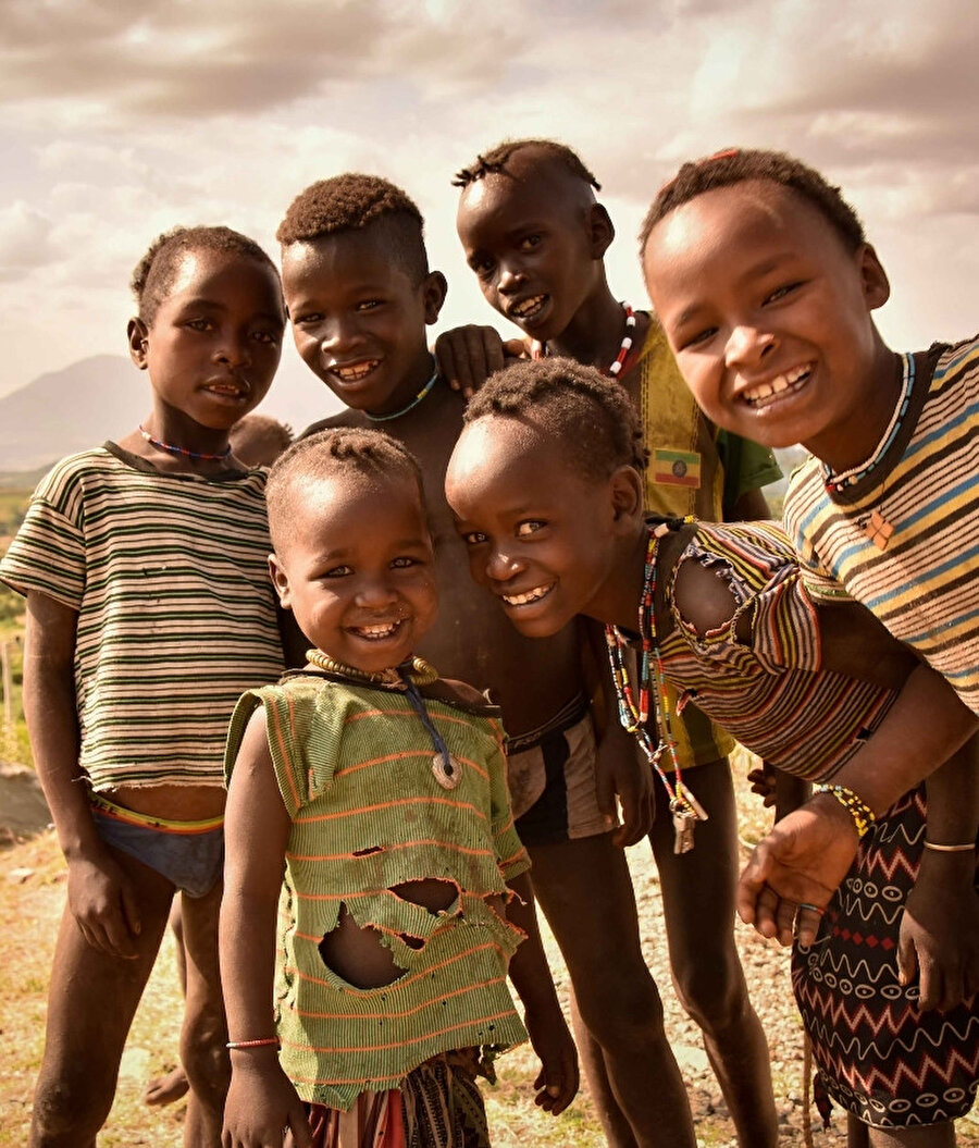
<path id="1" fill-rule="evenodd" d="M 133 938 L 142 922 L 135 892 L 108 850 L 69 861 L 68 905 L 93 948 L 127 961 L 139 955 Z"/>

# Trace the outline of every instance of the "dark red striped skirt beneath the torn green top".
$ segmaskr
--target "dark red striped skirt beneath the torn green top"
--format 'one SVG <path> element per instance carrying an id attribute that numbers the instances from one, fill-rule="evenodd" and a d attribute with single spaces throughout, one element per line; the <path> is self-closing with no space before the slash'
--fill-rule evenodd
<path id="1" fill-rule="evenodd" d="M 489 1148 L 481 1072 L 479 1049 L 459 1049 L 419 1064 L 401 1088 L 362 1093 L 349 1112 L 306 1104 L 313 1148 Z"/>

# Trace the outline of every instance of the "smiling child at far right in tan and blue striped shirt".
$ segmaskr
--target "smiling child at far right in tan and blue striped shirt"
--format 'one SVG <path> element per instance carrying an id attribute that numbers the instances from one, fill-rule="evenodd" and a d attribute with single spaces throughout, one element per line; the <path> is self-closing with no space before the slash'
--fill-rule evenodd
<path id="1" fill-rule="evenodd" d="M 891 768 L 848 771 L 880 813 L 979 726 L 979 343 L 891 351 L 872 319 L 889 285 L 860 220 L 784 155 L 732 150 L 685 165 L 656 196 L 642 243 L 698 402 L 731 429 L 815 456 L 785 504 L 813 596 L 856 598 L 932 667 L 908 692 L 908 728 L 914 736 L 927 713 L 945 734 L 935 752 L 909 761 L 895 736 Z M 968 867 L 971 838 L 953 844 Z M 814 798 L 760 846 L 743 916 L 770 930 L 771 890 L 824 903 L 855 848 L 847 812 Z"/>

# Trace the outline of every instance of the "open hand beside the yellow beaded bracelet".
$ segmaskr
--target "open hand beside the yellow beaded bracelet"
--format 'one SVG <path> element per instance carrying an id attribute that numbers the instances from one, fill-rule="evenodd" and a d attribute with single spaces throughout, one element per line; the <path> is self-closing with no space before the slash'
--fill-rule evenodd
<path id="1" fill-rule="evenodd" d="M 853 819 L 834 798 L 807 801 L 755 846 L 738 882 L 741 921 L 780 945 L 793 936 L 811 945 L 858 844 Z"/>

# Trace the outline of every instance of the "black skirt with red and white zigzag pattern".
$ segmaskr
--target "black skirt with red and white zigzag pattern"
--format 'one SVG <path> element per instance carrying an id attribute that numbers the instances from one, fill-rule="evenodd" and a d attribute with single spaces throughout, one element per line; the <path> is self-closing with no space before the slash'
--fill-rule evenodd
<path id="1" fill-rule="evenodd" d="M 979 998 L 923 1013 L 917 979 L 898 979 L 898 933 L 924 839 L 920 786 L 864 837 L 816 941 L 792 955 L 817 1102 L 829 1094 L 875 1127 L 953 1120 L 979 1087 Z"/>

